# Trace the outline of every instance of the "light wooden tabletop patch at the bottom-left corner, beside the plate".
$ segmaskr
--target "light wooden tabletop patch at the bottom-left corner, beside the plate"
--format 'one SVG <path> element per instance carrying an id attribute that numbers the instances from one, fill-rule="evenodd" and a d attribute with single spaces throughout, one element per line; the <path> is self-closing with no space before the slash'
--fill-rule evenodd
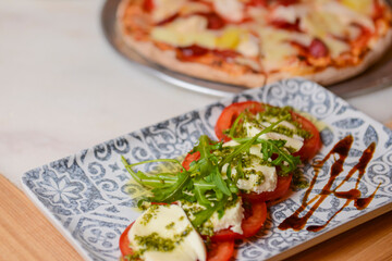
<path id="1" fill-rule="evenodd" d="M 2 175 L 0 175 L 0 260 L 83 260 L 33 202 Z"/>

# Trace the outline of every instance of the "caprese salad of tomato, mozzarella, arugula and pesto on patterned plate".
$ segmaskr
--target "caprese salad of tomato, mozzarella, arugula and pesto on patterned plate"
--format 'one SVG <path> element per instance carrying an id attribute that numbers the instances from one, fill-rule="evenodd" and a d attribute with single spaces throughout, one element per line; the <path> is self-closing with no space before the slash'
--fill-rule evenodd
<path id="1" fill-rule="evenodd" d="M 203 135 L 183 162 L 130 164 L 149 189 L 145 212 L 121 235 L 123 260 L 225 261 L 234 239 L 254 236 L 267 216 L 266 201 L 290 190 L 293 173 L 321 148 L 316 126 L 291 108 L 256 101 L 226 107 L 216 124 L 219 141 Z M 147 174 L 136 165 L 171 162 L 177 172 Z"/>

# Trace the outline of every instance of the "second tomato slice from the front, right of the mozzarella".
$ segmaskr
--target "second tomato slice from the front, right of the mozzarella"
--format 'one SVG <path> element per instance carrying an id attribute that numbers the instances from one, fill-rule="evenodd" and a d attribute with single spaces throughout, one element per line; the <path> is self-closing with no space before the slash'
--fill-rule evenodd
<path id="1" fill-rule="evenodd" d="M 247 238 L 254 236 L 264 225 L 267 217 L 266 202 L 253 202 L 252 208 L 245 208 L 245 217 L 241 223 L 243 234 L 232 232 L 230 228 L 217 232 L 211 240 L 229 240 L 236 238 Z"/>

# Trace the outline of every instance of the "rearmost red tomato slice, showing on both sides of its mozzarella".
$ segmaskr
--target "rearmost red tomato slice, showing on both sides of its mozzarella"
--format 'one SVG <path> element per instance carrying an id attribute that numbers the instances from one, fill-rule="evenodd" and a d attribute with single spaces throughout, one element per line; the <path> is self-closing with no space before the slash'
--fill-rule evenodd
<path id="1" fill-rule="evenodd" d="M 235 119 L 243 111 L 249 110 L 249 112 L 256 114 L 258 112 L 262 112 L 265 110 L 264 108 L 265 104 L 257 101 L 237 102 L 224 108 L 215 127 L 217 137 L 220 140 L 229 141 L 230 138 L 224 135 L 224 130 L 229 129 L 233 125 Z M 302 161 L 310 160 L 321 148 L 320 134 L 317 127 L 309 120 L 295 112 L 291 112 L 291 114 L 293 120 L 299 123 L 301 127 L 309 132 L 311 136 L 310 138 L 304 140 L 304 146 L 299 151 L 294 153 L 294 156 L 299 156 Z"/>

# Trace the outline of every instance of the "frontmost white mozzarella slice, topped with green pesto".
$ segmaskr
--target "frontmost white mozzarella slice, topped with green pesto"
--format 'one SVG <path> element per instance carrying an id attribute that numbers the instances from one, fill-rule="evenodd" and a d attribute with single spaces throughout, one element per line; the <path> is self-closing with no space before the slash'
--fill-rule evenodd
<path id="1" fill-rule="evenodd" d="M 184 232 L 186 232 L 184 235 Z M 193 228 L 182 208 L 175 204 L 152 206 L 133 224 L 127 235 L 131 248 L 140 252 L 145 261 L 186 260 L 205 261 L 206 247 L 199 234 Z M 150 240 L 169 241 L 169 251 L 148 248 Z M 140 240 L 140 238 L 145 240 Z M 155 238 L 155 239 L 154 239 Z M 147 241 L 147 245 L 142 241 Z"/>

